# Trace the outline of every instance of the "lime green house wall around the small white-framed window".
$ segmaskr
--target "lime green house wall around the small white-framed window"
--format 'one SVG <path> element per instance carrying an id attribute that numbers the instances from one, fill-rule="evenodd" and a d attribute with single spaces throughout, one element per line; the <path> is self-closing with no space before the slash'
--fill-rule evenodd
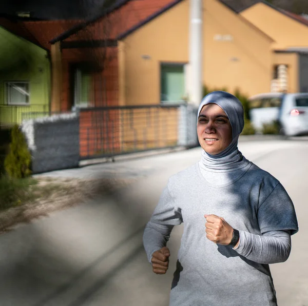
<path id="1" fill-rule="evenodd" d="M 29 106 L 7 105 L 6 81 L 29 81 Z M 48 52 L 0 27 L 0 126 L 20 124 L 22 113 L 48 112 L 49 100 Z"/>

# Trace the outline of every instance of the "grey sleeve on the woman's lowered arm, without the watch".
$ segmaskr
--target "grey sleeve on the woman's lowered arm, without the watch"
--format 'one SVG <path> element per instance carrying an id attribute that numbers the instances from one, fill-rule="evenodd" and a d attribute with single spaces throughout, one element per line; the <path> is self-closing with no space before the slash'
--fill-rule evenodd
<path id="1" fill-rule="evenodd" d="M 176 207 L 174 197 L 167 186 L 143 234 L 143 246 L 149 262 L 155 251 L 166 246 L 172 228 L 182 222 L 181 209 Z"/>

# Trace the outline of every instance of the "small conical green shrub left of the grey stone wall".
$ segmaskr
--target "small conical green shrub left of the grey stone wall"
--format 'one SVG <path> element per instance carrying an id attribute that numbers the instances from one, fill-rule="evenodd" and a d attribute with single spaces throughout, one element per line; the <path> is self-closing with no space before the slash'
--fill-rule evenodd
<path id="1" fill-rule="evenodd" d="M 4 167 L 10 178 L 24 178 L 31 174 L 31 154 L 23 132 L 14 126 L 11 131 L 9 153 L 5 157 Z"/>

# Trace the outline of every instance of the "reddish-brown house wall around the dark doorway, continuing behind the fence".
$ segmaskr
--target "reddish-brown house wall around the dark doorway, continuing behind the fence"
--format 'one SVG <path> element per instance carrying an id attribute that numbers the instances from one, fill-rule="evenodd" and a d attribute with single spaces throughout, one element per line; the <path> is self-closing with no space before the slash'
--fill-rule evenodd
<path id="1" fill-rule="evenodd" d="M 70 66 L 89 62 L 95 70 L 92 73 L 93 107 L 118 105 L 118 49 L 63 49 L 63 99 L 62 111 L 69 111 L 73 105 L 73 88 Z M 81 156 L 117 153 L 120 150 L 118 111 L 104 113 L 87 110 L 80 113 L 80 154 Z"/>

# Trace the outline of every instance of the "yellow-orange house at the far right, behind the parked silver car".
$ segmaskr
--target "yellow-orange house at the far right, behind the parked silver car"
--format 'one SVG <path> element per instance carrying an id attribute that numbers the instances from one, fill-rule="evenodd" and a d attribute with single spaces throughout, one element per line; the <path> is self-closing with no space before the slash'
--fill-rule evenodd
<path id="1" fill-rule="evenodd" d="M 308 91 L 308 19 L 259 1 L 240 15 L 272 37 L 272 91 Z"/>

